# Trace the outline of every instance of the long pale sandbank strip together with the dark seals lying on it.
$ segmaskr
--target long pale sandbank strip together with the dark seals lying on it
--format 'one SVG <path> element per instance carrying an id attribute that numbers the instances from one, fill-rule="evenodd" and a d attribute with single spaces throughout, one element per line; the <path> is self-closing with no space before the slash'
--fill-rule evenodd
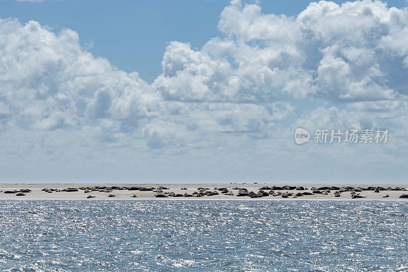
<path id="1" fill-rule="evenodd" d="M 408 193 L 406 188 L 408 184 L 0 184 L 0 199 L 404 200 L 400 196 Z"/>

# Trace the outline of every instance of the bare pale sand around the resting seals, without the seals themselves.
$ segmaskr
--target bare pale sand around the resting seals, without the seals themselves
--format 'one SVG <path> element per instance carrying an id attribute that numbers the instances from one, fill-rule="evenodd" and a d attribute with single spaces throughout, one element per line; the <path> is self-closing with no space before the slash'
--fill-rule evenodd
<path id="1" fill-rule="evenodd" d="M 246 188 L 248 191 L 254 191 L 257 193 L 259 188 L 263 186 L 272 187 L 273 185 L 276 186 L 283 186 L 283 185 L 290 185 L 290 186 L 303 186 L 308 187 L 309 191 L 311 192 L 312 187 L 321 187 L 321 186 L 353 186 L 353 187 L 368 187 L 368 186 L 382 186 L 382 187 L 404 187 L 408 188 L 408 184 L 0 184 L 0 199 L 2 200 L 10 200 L 10 199 L 18 199 L 18 200 L 84 200 L 88 195 L 95 196 L 93 199 L 88 199 L 89 201 L 92 200 L 100 200 L 100 199 L 129 199 L 129 200 L 403 200 L 398 199 L 398 197 L 402 193 L 408 193 L 408 191 L 380 191 L 379 193 L 375 193 L 374 191 L 362 191 L 358 192 L 366 198 L 363 199 L 351 199 L 350 192 L 342 192 L 340 197 L 334 196 L 335 190 L 330 190 L 330 193 L 327 195 L 324 194 L 314 194 L 314 195 L 305 195 L 301 197 L 294 198 L 290 196 L 287 199 L 284 199 L 281 196 L 265 196 L 261 198 L 251 199 L 249 196 L 236 196 L 238 190 L 234 190 L 232 188 L 239 187 L 239 188 Z M 44 188 L 54 188 L 54 189 L 64 189 L 68 187 L 80 188 L 80 187 L 87 187 L 87 186 L 139 186 L 139 187 L 159 187 L 165 186 L 168 187 L 169 190 L 164 190 L 165 192 L 174 192 L 174 193 L 189 193 L 192 194 L 194 191 L 197 191 L 198 187 L 210 188 L 211 191 L 214 191 L 214 188 L 227 188 L 230 191 L 233 191 L 234 195 L 223 195 L 219 192 L 219 195 L 213 196 L 202 196 L 202 197 L 167 197 L 167 198 L 156 198 L 155 195 L 157 192 L 154 191 L 128 191 L 128 190 L 113 190 L 112 192 L 98 192 L 92 191 L 90 193 L 84 193 L 84 190 L 79 190 L 78 192 L 52 192 L 47 193 L 41 191 Z M 181 188 L 187 188 L 187 190 L 181 190 Z M 25 193 L 24 196 L 16 196 L 14 193 L 4 193 L 6 190 L 19 190 L 19 189 L 30 189 L 32 192 Z M 265 190 L 269 191 L 269 190 Z M 275 190 L 277 192 L 278 190 Z M 303 192 L 298 190 L 281 190 L 282 192 Z M 116 195 L 115 197 L 108 197 L 109 194 Z M 136 195 L 137 197 L 131 197 L 132 195 Z M 382 196 L 388 194 L 389 197 L 383 198 Z M 405 199 L 408 200 L 408 199 Z"/>

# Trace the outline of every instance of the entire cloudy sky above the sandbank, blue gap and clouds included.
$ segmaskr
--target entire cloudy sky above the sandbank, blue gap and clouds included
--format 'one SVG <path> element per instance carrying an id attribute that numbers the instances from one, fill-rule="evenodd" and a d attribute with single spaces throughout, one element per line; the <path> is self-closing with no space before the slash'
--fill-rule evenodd
<path id="1" fill-rule="evenodd" d="M 0 1 L 0 181 L 407 182 L 405 6 Z"/>

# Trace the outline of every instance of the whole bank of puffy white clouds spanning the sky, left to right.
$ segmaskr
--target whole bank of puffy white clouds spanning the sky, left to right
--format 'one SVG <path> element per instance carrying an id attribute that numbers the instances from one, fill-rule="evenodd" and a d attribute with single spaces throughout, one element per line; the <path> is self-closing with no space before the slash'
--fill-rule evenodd
<path id="1" fill-rule="evenodd" d="M 296 126 L 408 132 L 408 10 L 321 1 L 288 17 L 232 1 L 218 29 L 198 50 L 169 42 L 147 84 L 92 56 L 72 30 L 0 19 L 1 146 L 159 156 L 268 141 L 277 154 Z"/>

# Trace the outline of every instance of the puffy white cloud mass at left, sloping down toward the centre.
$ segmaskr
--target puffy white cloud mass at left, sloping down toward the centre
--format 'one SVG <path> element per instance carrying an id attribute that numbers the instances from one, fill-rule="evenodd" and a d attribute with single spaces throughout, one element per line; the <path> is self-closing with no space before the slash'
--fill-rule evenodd
<path id="1" fill-rule="evenodd" d="M 158 114 L 160 93 L 84 51 L 74 31 L 1 20 L 0 36 L 0 97 L 10 126 L 49 130 Z"/>

